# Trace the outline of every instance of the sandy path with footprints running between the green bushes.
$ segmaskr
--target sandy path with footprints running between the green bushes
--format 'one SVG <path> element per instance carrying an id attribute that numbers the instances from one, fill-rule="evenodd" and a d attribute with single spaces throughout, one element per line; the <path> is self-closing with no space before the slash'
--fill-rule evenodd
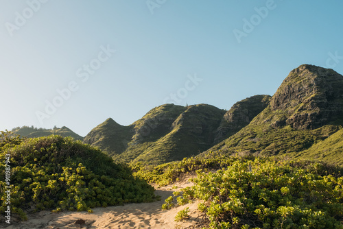
<path id="1" fill-rule="evenodd" d="M 177 189 L 172 189 L 173 186 Z M 107 208 L 93 208 L 93 213 L 86 212 L 63 212 L 51 213 L 42 211 L 35 215 L 28 215 L 28 220 L 19 224 L 12 224 L 8 229 L 34 229 L 34 228 L 187 228 L 194 224 L 198 219 L 198 202 L 178 206 L 170 210 L 161 210 L 165 199 L 172 195 L 174 191 L 191 186 L 191 182 L 185 179 L 183 182 L 164 186 L 156 189 L 156 195 L 161 195 L 161 201 L 153 203 L 126 204 L 124 206 L 110 206 Z M 174 221 L 176 213 L 189 207 L 187 221 L 177 223 Z M 82 219 L 84 221 L 77 220 Z"/>

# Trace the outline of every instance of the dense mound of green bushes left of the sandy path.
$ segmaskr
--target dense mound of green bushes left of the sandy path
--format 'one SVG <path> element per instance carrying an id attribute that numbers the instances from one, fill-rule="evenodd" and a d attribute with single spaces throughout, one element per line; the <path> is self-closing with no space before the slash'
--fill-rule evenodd
<path id="1" fill-rule="evenodd" d="M 128 202 L 153 201 L 154 188 L 134 178 L 99 149 L 73 138 L 9 137 L 1 132 L 0 160 L 10 161 L 12 213 L 25 210 L 89 210 Z M 0 165 L 0 212 L 6 204 L 5 164 Z"/>

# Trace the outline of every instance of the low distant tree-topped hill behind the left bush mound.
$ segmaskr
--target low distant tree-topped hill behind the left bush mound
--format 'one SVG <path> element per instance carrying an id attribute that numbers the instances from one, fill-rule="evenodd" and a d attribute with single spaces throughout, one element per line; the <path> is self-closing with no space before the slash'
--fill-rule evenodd
<path id="1" fill-rule="evenodd" d="M 37 138 L 41 136 L 49 136 L 51 134 L 55 134 L 55 135 L 60 135 L 63 137 L 71 136 L 75 140 L 83 141 L 82 136 L 76 134 L 75 132 L 73 132 L 72 130 L 70 130 L 69 128 L 65 126 L 63 126 L 62 128 L 54 128 L 54 129 L 43 129 L 43 128 L 34 128 L 33 126 L 32 127 L 23 126 L 21 128 L 18 127 L 18 128 L 12 129 L 12 132 L 14 134 L 19 134 L 20 136 L 25 136 L 27 138 Z"/>

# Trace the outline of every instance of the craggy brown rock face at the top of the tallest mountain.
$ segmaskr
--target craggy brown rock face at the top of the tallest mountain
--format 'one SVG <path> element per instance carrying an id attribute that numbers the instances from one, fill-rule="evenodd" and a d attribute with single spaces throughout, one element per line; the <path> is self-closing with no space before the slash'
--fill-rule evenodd
<path id="1" fill-rule="evenodd" d="M 343 115 L 343 76 L 332 69 L 303 64 L 285 78 L 270 108 L 285 112 L 274 127 L 313 130 L 335 123 Z"/>

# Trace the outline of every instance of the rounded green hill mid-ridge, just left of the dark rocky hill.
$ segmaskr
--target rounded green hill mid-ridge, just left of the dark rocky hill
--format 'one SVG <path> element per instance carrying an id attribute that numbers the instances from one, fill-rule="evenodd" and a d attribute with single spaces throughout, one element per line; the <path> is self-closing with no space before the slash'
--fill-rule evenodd
<path id="1" fill-rule="evenodd" d="M 142 143 L 130 145 L 121 158 L 126 162 L 161 164 L 199 154 L 213 145 L 214 132 L 224 113 L 206 104 L 189 106 L 166 126 L 160 138 L 145 138 Z"/>

